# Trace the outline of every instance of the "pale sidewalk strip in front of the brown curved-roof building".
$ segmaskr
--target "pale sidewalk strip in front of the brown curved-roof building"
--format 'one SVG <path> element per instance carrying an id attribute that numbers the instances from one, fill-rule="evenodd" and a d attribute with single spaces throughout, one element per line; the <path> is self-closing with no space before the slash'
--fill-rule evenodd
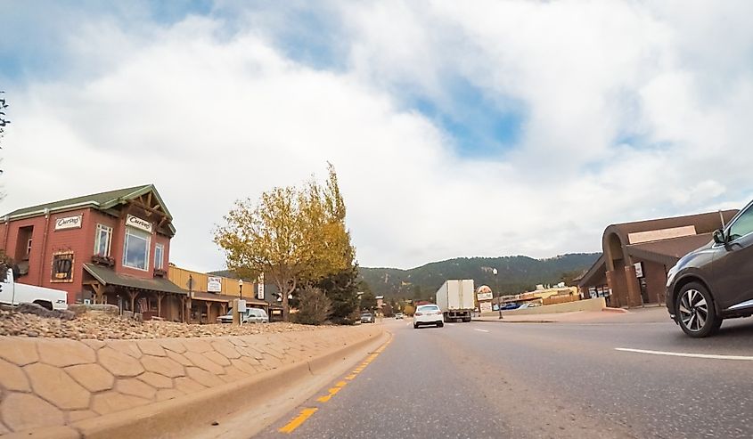
<path id="1" fill-rule="evenodd" d="M 547 313 L 526 315 L 505 315 L 499 317 L 475 317 L 473 321 L 497 321 L 502 323 L 664 323 L 669 320 L 667 308 L 655 306 L 635 308 L 627 313 L 610 311 L 575 311 L 572 313 Z"/>

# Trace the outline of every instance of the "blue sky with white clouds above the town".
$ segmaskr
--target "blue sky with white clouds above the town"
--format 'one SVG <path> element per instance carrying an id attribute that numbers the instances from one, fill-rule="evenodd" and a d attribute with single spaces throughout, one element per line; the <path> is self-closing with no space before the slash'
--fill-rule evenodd
<path id="1" fill-rule="evenodd" d="M 365 266 L 601 251 L 753 195 L 747 0 L 0 10 L 0 210 L 154 183 L 192 269 L 233 200 L 328 160 Z"/>

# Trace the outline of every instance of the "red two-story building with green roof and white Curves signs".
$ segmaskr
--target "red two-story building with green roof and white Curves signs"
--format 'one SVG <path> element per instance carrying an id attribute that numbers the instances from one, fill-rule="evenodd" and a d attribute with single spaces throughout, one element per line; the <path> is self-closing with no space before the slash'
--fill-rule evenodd
<path id="1" fill-rule="evenodd" d="M 19 282 L 65 290 L 69 303 L 182 321 L 186 292 L 167 279 L 172 221 L 148 184 L 18 209 L 0 239 Z"/>

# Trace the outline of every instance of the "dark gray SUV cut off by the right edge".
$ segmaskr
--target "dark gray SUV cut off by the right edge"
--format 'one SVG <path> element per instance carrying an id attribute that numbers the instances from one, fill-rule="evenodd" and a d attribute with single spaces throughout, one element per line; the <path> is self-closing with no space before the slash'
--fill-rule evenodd
<path id="1" fill-rule="evenodd" d="M 753 314 L 753 202 L 669 270 L 667 311 L 691 337 L 713 334 L 724 319 Z"/>

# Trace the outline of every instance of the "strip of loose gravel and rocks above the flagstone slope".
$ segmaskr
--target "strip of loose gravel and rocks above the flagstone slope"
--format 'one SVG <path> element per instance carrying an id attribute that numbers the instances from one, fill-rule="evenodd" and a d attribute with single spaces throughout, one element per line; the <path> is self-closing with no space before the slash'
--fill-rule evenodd
<path id="1" fill-rule="evenodd" d="M 0 336 L 52 337 L 74 339 L 127 339 L 168 337 L 247 336 L 275 332 L 314 330 L 317 327 L 294 323 L 197 325 L 171 321 L 121 319 L 105 313 L 84 313 L 64 321 L 34 314 L 0 310 Z"/>

